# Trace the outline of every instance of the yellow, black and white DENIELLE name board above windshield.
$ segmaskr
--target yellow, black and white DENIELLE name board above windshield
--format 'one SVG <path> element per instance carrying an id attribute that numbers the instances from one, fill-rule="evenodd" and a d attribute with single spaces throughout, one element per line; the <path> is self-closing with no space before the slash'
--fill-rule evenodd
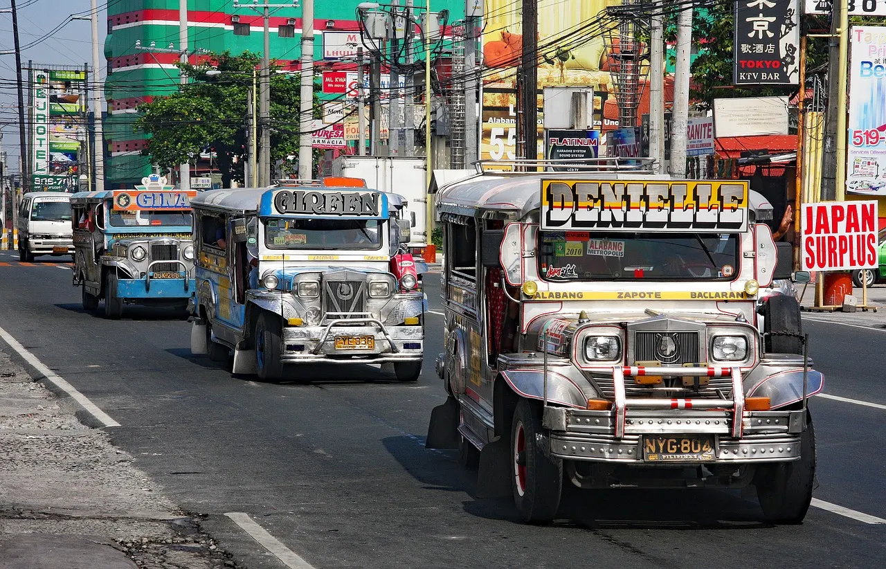
<path id="1" fill-rule="evenodd" d="M 542 180 L 541 229 L 703 231 L 748 228 L 743 180 Z"/>

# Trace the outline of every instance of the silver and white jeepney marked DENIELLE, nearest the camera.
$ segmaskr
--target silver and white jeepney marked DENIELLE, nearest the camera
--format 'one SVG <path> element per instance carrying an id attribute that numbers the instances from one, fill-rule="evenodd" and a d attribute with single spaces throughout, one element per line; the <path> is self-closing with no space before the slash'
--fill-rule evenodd
<path id="1" fill-rule="evenodd" d="M 601 162 L 602 164 L 602 162 Z M 556 516 L 582 488 L 757 488 L 766 519 L 812 497 L 809 369 L 765 199 L 641 166 L 483 172 L 439 191 L 449 397 L 430 448 L 481 495 Z"/>

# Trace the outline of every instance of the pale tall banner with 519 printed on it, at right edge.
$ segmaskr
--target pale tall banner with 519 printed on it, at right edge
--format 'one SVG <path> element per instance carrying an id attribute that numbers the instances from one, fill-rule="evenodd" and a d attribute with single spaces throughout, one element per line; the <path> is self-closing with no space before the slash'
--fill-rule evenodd
<path id="1" fill-rule="evenodd" d="M 846 191 L 886 196 L 886 27 L 850 27 Z"/>

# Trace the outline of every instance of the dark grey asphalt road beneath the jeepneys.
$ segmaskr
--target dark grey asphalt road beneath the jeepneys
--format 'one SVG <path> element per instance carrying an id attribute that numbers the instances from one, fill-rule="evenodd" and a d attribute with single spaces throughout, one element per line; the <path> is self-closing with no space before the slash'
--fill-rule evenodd
<path id="1" fill-rule="evenodd" d="M 45 263 L 39 262 L 44 260 Z M 422 378 L 369 366 L 296 370 L 264 384 L 192 357 L 170 311 L 120 321 L 82 312 L 66 260 L 31 266 L 0 253 L 0 326 L 120 423 L 114 444 L 250 568 L 284 567 L 225 517 L 245 512 L 320 567 L 880 567 L 886 524 L 812 508 L 768 526 L 745 493 L 570 491 L 554 526 L 517 522 L 508 499 L 475 497 L 476 473 L 424 448 L 445 400 L 433 372 L 442 318 L 431 314 Z M 6 264 L 9 263 L 9 264 Z M 426 279 L 439 310 L 439 279 Z M 827 316 L 816 316 L 824 319 Z M 807 322 L 828 394 L 886 405 L 886 331 Z M 886 518 L 886 409 L 816 398 L 816 497 Z"/>

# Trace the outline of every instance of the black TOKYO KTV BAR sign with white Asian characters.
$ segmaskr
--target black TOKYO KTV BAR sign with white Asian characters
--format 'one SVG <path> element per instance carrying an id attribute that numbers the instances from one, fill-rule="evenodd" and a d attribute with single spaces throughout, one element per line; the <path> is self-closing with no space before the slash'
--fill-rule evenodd
<path id="1" fill-rule="evenodd" d="M 799 84 L 798 5 L 798 0 L 735 3 L 735 85 Z"/>

